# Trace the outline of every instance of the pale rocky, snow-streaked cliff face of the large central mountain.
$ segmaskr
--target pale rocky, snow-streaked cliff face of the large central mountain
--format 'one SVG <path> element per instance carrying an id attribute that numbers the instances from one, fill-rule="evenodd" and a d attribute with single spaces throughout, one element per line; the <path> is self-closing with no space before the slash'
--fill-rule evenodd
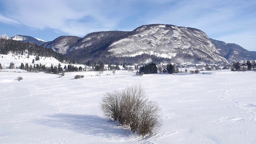
<path id="1" fill-rule="evenodd" d="M 140 26 L 129 36 L 108 47 L 112 56 L 150 54 L 186 62 L 188 58 L 227 63 L 226 59 L 201 30 L 173 25 L 152 24 Z"/>

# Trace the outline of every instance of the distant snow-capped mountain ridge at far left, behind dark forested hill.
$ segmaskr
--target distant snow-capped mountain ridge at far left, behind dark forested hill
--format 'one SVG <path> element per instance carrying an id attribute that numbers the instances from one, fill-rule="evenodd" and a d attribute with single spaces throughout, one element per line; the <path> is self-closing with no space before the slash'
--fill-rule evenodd
<path id="1" fill-rule="evenodd" d="M 4 38 L 4 39 L 12 39 L 12 40 L 18 40 L 21 42 L 30 42 L 32 44 L 38 44 L 38 45 L 42 45 L 45 43 L 44 40 L 40 40 L 38 38 L 33 38 L 32 36 L 22 36 L 22 35 L 15 35 L 12 37 L 7 36 L 6 34 L 3 34 L 2 36 L 0 36 L 0 38 Z"/>

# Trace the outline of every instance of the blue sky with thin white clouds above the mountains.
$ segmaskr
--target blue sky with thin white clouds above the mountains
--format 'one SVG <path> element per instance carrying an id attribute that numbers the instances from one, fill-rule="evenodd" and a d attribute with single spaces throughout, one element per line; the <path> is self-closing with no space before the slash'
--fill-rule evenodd
<path id="1" fill-rule="evenodd" d="M 255 0 L 0 0 L 0 35 L 52 41 L 144 24 L 198 28 L 256 51 Z"/>

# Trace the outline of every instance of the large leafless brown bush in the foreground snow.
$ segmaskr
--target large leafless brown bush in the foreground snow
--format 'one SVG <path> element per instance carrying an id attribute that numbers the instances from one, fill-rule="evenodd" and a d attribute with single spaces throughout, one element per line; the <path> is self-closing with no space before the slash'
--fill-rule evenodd
<path id="1" fill-rule="evenodd" d="M 160 126 L 160 109 L 148 101 L 141 86 L 129 86 L 122 92 L 106 93 L 102 99 L 101 110 L 111 120 L 130 126 L 132 133 L 142 136 L 150 134 Z"/>

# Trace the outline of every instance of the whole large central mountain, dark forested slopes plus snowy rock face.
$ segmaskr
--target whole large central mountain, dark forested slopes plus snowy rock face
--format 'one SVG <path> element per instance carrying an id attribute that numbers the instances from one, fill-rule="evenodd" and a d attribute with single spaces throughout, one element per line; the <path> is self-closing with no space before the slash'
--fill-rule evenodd
<path id="1" fill-rule="evenodd" d="M 72 42 L 59 37 L 43 46 L 80 61 L 228 63 L 201 30 L 165 24 L 144 25 L 131 32 L 93 32 L 72 37 Z"/>

